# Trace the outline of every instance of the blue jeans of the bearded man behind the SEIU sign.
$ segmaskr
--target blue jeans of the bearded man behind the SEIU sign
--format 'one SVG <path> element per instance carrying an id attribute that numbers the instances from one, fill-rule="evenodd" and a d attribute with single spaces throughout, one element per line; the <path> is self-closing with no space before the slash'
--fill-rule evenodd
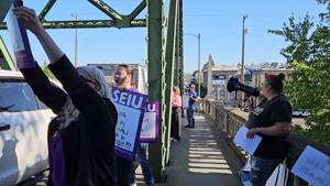
<path id="1" fill-rule="evenodd" d="M 138 161 L 141 164 L 142 173 L 143 173 L 143 177 L 144 177 L 144 182 L 145 182 L 146 186 L 154 186 L 155 179 L 154 179 L 148 160 L 146 158 L 145 150 L 146 150 L 145 143 L 138 144 L 138 151 L 136 151 Z M 134 164 L 132 163 L 131 174 L 130 174 L 130 185 L 133 185 L 134 183 L 135 183 L 135 167 L 134 167 Z"/>

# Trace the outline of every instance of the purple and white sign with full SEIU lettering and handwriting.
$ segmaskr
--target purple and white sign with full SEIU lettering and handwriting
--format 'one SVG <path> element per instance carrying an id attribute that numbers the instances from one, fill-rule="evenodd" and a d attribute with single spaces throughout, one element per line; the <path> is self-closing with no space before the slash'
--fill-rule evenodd
<path id="1" fill-rule="evenodd" d="M 136 146 L 145 112 L 146 95 L 112 87 L 112 102 L 118 111 L 114 153 L 135 160 Z"/>

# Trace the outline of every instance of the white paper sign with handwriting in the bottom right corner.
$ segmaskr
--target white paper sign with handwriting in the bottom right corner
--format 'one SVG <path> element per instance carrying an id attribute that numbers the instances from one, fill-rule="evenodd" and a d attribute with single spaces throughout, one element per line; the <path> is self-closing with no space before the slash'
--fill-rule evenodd
<path id="1" fill-rule="evenodd" d="M 330 157 L 309 145 L 292 172 L 314 186 L 330 186 Z"/>

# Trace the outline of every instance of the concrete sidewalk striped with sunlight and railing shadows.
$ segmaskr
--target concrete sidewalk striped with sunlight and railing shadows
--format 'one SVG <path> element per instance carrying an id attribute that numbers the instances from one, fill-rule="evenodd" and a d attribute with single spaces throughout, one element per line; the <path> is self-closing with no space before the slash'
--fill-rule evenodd
<path id="1" fill-rule="evenodd" d="M 241 162 L 219 129 L 202 114 L 195 118 L 196 128 L 183 128 L 182 141 L 172 142 L 167 182 L 157 186 L 241 186 L 235 176 Z M 142 179 L 140 172 L 139 186 Z"/>

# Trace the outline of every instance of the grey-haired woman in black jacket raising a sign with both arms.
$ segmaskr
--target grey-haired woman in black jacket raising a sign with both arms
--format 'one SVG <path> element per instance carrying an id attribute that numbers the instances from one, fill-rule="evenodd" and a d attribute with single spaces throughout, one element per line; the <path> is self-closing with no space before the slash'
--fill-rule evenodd
<path id="1" fill-rule="evenodd" d="M 34 10 L 18 7 L 13 12 L 19 25 L 26 25 L 38 39 L 51 62 L 48 68 L 66 90 L 53 86 L 33 58 L 18 64 L 38 99 L 57 114 L 48 127 L 47 185 L 116 186 L 113 154 L 118 114 L 108 99 L 110 89 L 105 75 L 90 67 L 75 69 Z M 30 47 L 26 39 L 23 44 L 25 50 Z M 24 50 L 20 51 L 23 54 Z"/>

